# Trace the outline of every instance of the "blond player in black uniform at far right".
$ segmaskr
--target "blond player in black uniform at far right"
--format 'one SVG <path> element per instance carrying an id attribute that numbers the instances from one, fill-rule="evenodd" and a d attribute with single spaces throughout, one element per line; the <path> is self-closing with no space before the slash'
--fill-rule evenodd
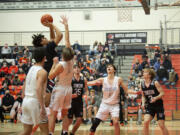
<path id="1" fill-rule="evenodd" d="M 149 135 L 149 123 L 157 114 L 159 127 L 163 135 L 168 135 L 168 130 L 165 126 L 164 107 L 162 97 L 164 91 L 158 81 L 155 81 L 155 72 L 152 69 L 144 69 L 144 80 L 141 83 L 142 107 L 145 108 L 144 115 L 144 135 Z"/>

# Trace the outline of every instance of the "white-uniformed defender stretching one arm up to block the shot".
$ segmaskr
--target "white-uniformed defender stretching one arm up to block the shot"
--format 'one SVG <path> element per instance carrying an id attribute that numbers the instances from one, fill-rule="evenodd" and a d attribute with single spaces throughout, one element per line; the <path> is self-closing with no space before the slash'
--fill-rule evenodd
<path id="1" fill-rule="evenodd" d="M 68 109 L 71 107 L 72 100 L 72 77 L 73 77 L 73 57 L 74 51 L 70 46 L 68 21 L 65 16 L 61 17 L 61 23 L 65 26 L 65 45 L 62 51 L 62 61 L 58 62 L 54 58 L 53 66 L 49 73 L 49 79 L 56 77 L 56 84 L 52 92 L 50 103 L 49 130 L 53 134 L 55 128 L 55 120 L 59 108 L 61 109 L 62 118 L 67 116 Z M 63 129 L 65 128 L 63 119 Z M 67 129 L 67 127 L 66 127 Z M 63 131 L 62 135 L 66 135 L 67 131 Z"/>

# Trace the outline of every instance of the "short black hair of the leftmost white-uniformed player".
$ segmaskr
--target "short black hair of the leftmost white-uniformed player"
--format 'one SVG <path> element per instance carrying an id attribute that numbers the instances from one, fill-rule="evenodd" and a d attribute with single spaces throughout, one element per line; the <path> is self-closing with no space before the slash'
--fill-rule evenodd
<path id="1" fill-rule="evenodd" d="M 45 56 L 46 56 L 46 49 L 44 47 L 34 48 L 33 57 L 36 62 L 41 62 Z"/>

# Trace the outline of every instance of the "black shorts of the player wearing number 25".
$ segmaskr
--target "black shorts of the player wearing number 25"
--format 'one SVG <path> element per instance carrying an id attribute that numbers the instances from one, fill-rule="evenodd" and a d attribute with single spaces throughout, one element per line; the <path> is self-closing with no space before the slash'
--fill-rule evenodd
<path id="1" fill-rule="evenodd" d="M 83 117 L 83 103 L 71 104 L 71 108 L 68 110 L 68 118 L 72 119 L 73 115 L 77 117 Z"/>

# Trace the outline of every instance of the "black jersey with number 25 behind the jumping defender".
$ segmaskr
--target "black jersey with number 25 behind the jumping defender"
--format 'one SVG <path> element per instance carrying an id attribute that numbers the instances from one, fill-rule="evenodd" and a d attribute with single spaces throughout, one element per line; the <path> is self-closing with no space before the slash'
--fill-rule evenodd
<path id="1" fill-rule="evenodd" d="M 82 95 L 84 93 L 84 77 L 80 77 L 79 81 L 75 79 L 75 77 L 72 78 L 72 94 L 77 94 L 76 98 L 72 99 L 72 103 L 77 102 L 81 103 L 82 102 Z"/>

